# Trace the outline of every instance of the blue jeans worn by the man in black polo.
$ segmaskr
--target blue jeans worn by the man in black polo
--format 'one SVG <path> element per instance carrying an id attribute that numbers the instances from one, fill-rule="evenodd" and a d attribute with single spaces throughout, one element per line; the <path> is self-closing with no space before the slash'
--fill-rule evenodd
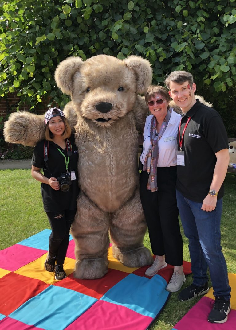
<path id="1" fill-rule="evenodd" d="M 214 296 L 229 300 L 231 287 L 220 245 L 222 198 L 217 200 L 214 211 L 206 212 L 201 210 L 202 203 L 185 198 L 178 190 L 176 197 L 184 234 L 189 240 L 193 284 L 203 286 L 208 281 L 208 266 Z"/>

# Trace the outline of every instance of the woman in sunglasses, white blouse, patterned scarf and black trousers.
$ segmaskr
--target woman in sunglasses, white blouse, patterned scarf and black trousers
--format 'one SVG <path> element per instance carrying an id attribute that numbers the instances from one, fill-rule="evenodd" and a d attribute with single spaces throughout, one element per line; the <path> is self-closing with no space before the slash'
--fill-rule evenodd
<path id="1" fill-rule="evenodd" d="M 170 100 L 168 91 L 161 86 L 149 86 L 145 94 L 151 115 L 146 118 L 143 131 L 140 199 L 156 256 L 145 275 L 157 274 L 167 263 L 174 266 L 166 290 L 176 292 L 185 281 L 176 202 L 176 136 L 181 116 L 170 108 Z"/>

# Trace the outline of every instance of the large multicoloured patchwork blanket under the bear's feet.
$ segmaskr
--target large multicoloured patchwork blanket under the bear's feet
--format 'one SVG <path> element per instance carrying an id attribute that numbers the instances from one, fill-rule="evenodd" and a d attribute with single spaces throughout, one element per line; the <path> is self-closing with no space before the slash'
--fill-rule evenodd
<path id="1" fill-rule="evenodd" d="M 44 270 L 51 231 L 29 237 L 0 251 L 1 330 L 141 330 L 147 329 L 165 306 L 165 290 L 173 267 L 148 278 L 147 267 L 129 268 L 112 256 L 108 273 L 98 280 L 73 277 L 74 241 L 66 254 L 67 278 L 54 279 Z M 190 263 L 184 262 L 185 274 Z"/>

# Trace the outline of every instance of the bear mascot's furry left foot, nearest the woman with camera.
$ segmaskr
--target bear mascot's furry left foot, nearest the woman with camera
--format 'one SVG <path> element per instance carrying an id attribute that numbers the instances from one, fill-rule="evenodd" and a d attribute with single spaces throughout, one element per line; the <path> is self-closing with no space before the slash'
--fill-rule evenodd
<path id="1" fill-rule="evenodd" d="M 82 259 L 75 263 L 74 277 L 76 279 L 94 280 L 103 277 L 108 271 L 108 260 Z"/>

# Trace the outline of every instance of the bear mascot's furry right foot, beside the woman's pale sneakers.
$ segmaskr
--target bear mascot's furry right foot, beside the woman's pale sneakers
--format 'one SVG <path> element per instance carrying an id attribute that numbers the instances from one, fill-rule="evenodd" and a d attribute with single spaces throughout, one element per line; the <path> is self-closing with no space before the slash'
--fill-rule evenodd
<path id="1" fill-rule="evenodd" d="M 121 252 L 113 246 L 114 257 L 120 260 L 127 267 L 142 267 L 153 263 L 151 252 L 144 246 Z"/>

